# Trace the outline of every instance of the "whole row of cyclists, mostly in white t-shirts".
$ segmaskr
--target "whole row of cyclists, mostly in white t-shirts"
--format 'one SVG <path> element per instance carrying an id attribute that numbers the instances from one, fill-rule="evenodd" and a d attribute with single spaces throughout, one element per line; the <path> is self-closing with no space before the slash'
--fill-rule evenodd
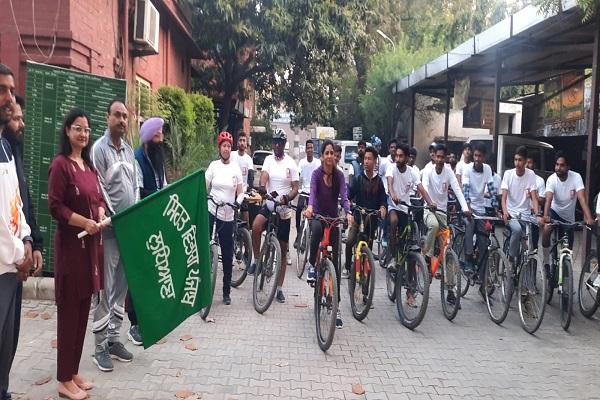
<path id="1" fill-rule="evenodd" d="M 539 228 L 543 230 L 542 253 L 546 271 L 549 268 L 550 237 L 554 227 L 551 221 L 574 222 L 576 203 L 579 202 L 588 225 L 595 223 L 588 206 L 581 176 L 569 169 L 568 156 L 559 153 L 555 161 L 555 173 L 546 182 L 533 170 L 533 160 L 528 158 L 527 149 L 522 146 L 514 154 L 514 169 L 505 171 L 500 178 L 486 163 L 486 148 L 483 145 L 471 146 L 465 143 L 461 160 L 454 165 L 447 161 L 447 148 L 441 143 L 429 146 L 430 161 L 419 169 L 415 165 L 417 151 L 408 145 L 391 140 L 388 143 L 387 157 L 380 155 L 381 141 L 373 140 L 374 146 L 365 141 L 358 142 L 357 158 L 352 162 L 348 177 L 340 166 L 341 147 L 333 141 L 325 140 L 320 147 L 320 155 L 314 154 L 314 144 L 306 142 L 306 157 L 296 165 L 285 154 L 287 135 L 282 129 L 275 129 L 272 137 L 273 154 L 267 156 L 262 167 L 259 186 L 256 189 L 267 201 L 252 223 L 253 261 L 247 272 L 252 275 L 257 268 L 261 235 L 269 215 L 277 212 L 279 218 L 277 238 L 281 246 L 281 273 L 277 282 L 276 300 L 285 302 L 283 282 L 286 269 L 286 253 L 290 239 L 291 219 L 294 216 L 292 201 L 300 194 L 296 211 L 296 230 L 301 230 L 302 217 L 310 219 L 310 253 L 306 280 L 314 283 L 316 261 L 321 242 L 324 222 L 314 218 L 320 215 L 337 218 L 345 215 L 348 223 L 344 268 L 337 265 L 340 240 L 338 230 L 332 231 L 330 243 L 333 247 L 333 260 L 339 279 L 347 277 L 352 263 L 352 248 L 357 240 L 361 214 L 352 206 L 368 210 L 378 210 L 363 221 L 368 237 L 375 238 L 378 227 L 383 231 L 381 239 L 384 247 L 389 247 L 388 255 L 402 248 L 399 232 L 409 223 L 408 208 L 411 204 L 424 204 L 425 211 L 420 217 L 426 229 L 422 243 L 422 253 L 426 263 L 431 263 L 437 233 L 448 227 L 449 208 L 459 209 L 465 221 L 464 255 L 461 264 L 466 270 L 474 270 L 487 246 L 485 238 L 476 235 L 483 230 L 484 220 L 471 218 L 473 215 L 500 215 L 511 234 L 508 246 L 508 260 L 514 265 L 520 252 L 525 221 L 532 222 L 533 242 L 538 243 Z M 206 183 L 213 203 L 243 203 L 244 192 L 252 188 L 253 166 L 246 154 L 247 137 L 240 134 L 238 150 L 232 151 L 233 137 L 227 132 L 218 135 L 219 160 L 213 161 L 206 172 Z M 529 168 L 528 168 L 529 167 Z M 224 270 L 223 302 L 231 303 L 230 280 L 232 268 L 233 211 L 220 208 L 215 215 L 214 205 L 209 203 L 211 221 L 216 218 Z M 600 202 L 596 204 L 596 214 L 600 213 Z M 417 213 L 418 215 L 418 213 Z M 243 216 L 247 221 L 247 213 Z M 558 229 L 565 229 L 560 227 Z M 299 236 L 294 246 L 299 246 Z M 473 240 L 476 239 L 476 240 Z M 573 233 L 569 233 L 570 246 Z M 389 246 L 388 246 L 389 244 Z M 477 251 L 478 250 L 478 251 Z M 388 256 L 389 257 L 389 256 Z M 384 262 L 383 265 L 386 265 Z M 479 271 L 479 279 L 483 280 Z M 600 286 L 596 279 L 595 286 Z M 456 301 L 458 293 L 449 290 L 446 301 Z M 339 291 L 338 291 L 339 296 Z M 410 299 L 407 299 L 410 301 Z M 336 326 L 343 326 L 341 315 L 337 314 Z"/>

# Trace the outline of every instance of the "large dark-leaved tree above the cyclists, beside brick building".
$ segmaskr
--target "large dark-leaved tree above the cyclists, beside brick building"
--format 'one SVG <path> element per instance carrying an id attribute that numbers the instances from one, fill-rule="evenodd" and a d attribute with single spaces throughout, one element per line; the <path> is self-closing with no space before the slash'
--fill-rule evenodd
<path id="1" fill-rule="evenodd" d="M 196 0 L 194 37 L 203 52 L 198 87 L 221 100 L 225 129 L 252 80 L 263 108 L 284 104 L 297 125 L 331 118 L 331 79 L 350 65 L 363 31 L 360 0 Z"/>

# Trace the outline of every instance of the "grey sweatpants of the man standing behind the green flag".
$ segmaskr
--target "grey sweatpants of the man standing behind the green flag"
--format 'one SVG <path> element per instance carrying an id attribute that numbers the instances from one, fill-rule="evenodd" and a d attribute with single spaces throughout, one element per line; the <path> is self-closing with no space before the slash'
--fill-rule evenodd
<path id="1" fill-rule="evenodd" d="M 120 341 L 127 296 L 127 280 L 117 239 L 110 228 L 103 232 L 102 239 L 104 241 L 104 290 L 92 296 L 94 310 L 92 331 L 96 339 L 96 351 L 107 348 L 108 342 Z"/>

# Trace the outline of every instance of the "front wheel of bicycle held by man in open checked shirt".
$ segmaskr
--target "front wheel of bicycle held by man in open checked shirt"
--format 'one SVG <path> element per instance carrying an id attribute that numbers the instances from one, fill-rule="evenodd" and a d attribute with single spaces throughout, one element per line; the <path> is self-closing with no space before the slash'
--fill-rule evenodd
<path id="1" fill-rule="evenodd" d="M 510 265 L 499 249 L 493 249 L 488 254 L 482 285 L 488 314 L 492 321 L 500 325 L 508 315 L 512 294 Z"/>

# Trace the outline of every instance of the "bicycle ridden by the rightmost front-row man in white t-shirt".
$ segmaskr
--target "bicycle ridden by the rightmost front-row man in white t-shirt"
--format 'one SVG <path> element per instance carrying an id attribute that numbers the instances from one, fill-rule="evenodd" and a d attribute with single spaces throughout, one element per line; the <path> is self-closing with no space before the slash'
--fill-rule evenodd
<path id="1" fill-rule="evenodd" d="M 562 226 L 571 229 L 586 226 L 582 222 L 562 222 L 558 220 L 550 220 L 548 225 L 554 227 Z M 546 271 L 546 273 L 549 273 L 546 303 L 550 304 L 554 295 L 554 288 L 557 288 L 559 295 L 558 305 L 560 309 L 560 324 L 564 330 L 568 330 L 573 314 L 573 250 L 571 250 L 569 246 L 569 234 L 567 229 L 564 229 L 562 235 L 559 235 L 558 229 L 554 229 L 553 234 L 555 240 L 550 248 L 552 260 L 550 270 Z"/>

